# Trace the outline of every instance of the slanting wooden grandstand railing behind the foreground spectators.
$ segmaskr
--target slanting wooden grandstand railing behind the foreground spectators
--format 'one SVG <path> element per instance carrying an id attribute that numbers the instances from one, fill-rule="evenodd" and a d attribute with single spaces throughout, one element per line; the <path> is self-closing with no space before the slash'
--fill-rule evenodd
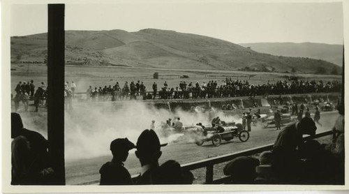
<path id="1" fill-rule="evenodd" d="M 320 138 L 320 137 L 325 137 L 327 135 L 332 135 L 332 130 L 327 130 L 325 132 L 322 133 L 318 133 L 312 136 L 306 136 L 303 137 L 303 140 L 311 140 L 311 139 L 316 139 L 316 138 Z M 216 156 L 213 158 L 207 158 L 201 161 L 195 161 L 193 163 L 186 163 L 184 165 L 181 165 L 182 169 L 184 170 L 196 170 L 202 167 L 206 168 L 206 176 L 205 176 L 205 183 L 204 184 L 223 184 L 227 181 L 230 180 L 230 177 L 223 177 L 221 179 L 214 179 L 214 165 L 216 164 L 220 164 L 220 163 L 225 163 L 228 161 L 231 161 L 234 158 L 237 158 L 239 156 L 251 156 L 254 154 L 260 154 L 262 151 L 268 151 L 268 150 L 272 150 L 273 149 L 273 145 L 274 144 L 267 144 L 261 147 L 255 147 L 252 149 L 246 149 L 243 151 L 237 151 L 233 154 L 225 154 L 222 156 Z M 139 177 L 139 174 L 133 175 L 133 181 L 137 181 Z M 98 184 L 99 180 L 96 181 L 90 181 L 88 183 L 84 183 L 84 184 Z"/>

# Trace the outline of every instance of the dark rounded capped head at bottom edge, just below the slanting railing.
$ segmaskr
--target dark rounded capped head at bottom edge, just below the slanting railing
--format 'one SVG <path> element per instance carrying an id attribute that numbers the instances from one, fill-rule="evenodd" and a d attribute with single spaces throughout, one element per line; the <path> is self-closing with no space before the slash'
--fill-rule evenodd
<path id="1" fill-rule="evenodd" d="M 256 158 L 239 156 L 225 165 L 223 172 L 231 176 L 231 184 L 253 184 L 256 173 L 255 167 L 260 164 Z"/>

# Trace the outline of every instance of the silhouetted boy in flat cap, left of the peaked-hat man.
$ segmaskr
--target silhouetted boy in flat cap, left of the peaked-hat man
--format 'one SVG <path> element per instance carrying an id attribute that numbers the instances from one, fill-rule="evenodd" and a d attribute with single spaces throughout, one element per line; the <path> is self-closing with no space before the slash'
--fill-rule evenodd
<path id="1" fill-rule="evenodd" d="M 135 148 L 135 144 L 127 138 L 116 139 L 110 143 L 112 151 L 112 161 L 102 165 L 99 173 L 101 174 L 101 185 L 129 185 L 133 184 L 131 174 L 124 167 L 124 161 L 128 156 L 128 151 Z"/>

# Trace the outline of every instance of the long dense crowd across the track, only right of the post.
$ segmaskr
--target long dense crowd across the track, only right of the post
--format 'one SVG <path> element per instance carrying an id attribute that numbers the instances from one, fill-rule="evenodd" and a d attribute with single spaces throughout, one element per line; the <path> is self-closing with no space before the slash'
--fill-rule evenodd
<path id="1" fill-rule="evenodd" d="M 92 100 L 124 100 L 136 99 L 142 96 L 143 100 L 149 99 L 181 99 L 181 98 L 227 98 L 239 96 L 268 96 L 281 94 L 304 94 L 335 92 L 341 90 L 341 82 L 333 80 L 324 82 L 322 80 L 283 80 L 276 83 L 267 81 L 265 84 L 250 84 L 248 80 L 232 80 L 226 78 L 221 84 L 217 81 L 209 82 L 189 82 L 180 81 L 179 86 L 169 87 L 168 82 L 164 82 L 162 87 L 154 82 L 152 92 L 147 91 L 143 82 L 136 84 L 125 82 L 120 86 L 119 82 L 109 87 L 89 87 L 87 89 L 87 99 Z"/>

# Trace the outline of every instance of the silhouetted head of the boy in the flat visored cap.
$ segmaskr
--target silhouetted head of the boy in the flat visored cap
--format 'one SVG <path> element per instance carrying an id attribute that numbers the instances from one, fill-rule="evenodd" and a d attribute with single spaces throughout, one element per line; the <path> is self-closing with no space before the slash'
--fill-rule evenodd
<path id="1" fill-rule="evenodd" d="M 135 144 L 127 138 L 115 139 L 110 143 L 110 151 L 112 151 L 113 160 L 124 162 L 128 156 L 128 151 L 135 148 Z"/>

